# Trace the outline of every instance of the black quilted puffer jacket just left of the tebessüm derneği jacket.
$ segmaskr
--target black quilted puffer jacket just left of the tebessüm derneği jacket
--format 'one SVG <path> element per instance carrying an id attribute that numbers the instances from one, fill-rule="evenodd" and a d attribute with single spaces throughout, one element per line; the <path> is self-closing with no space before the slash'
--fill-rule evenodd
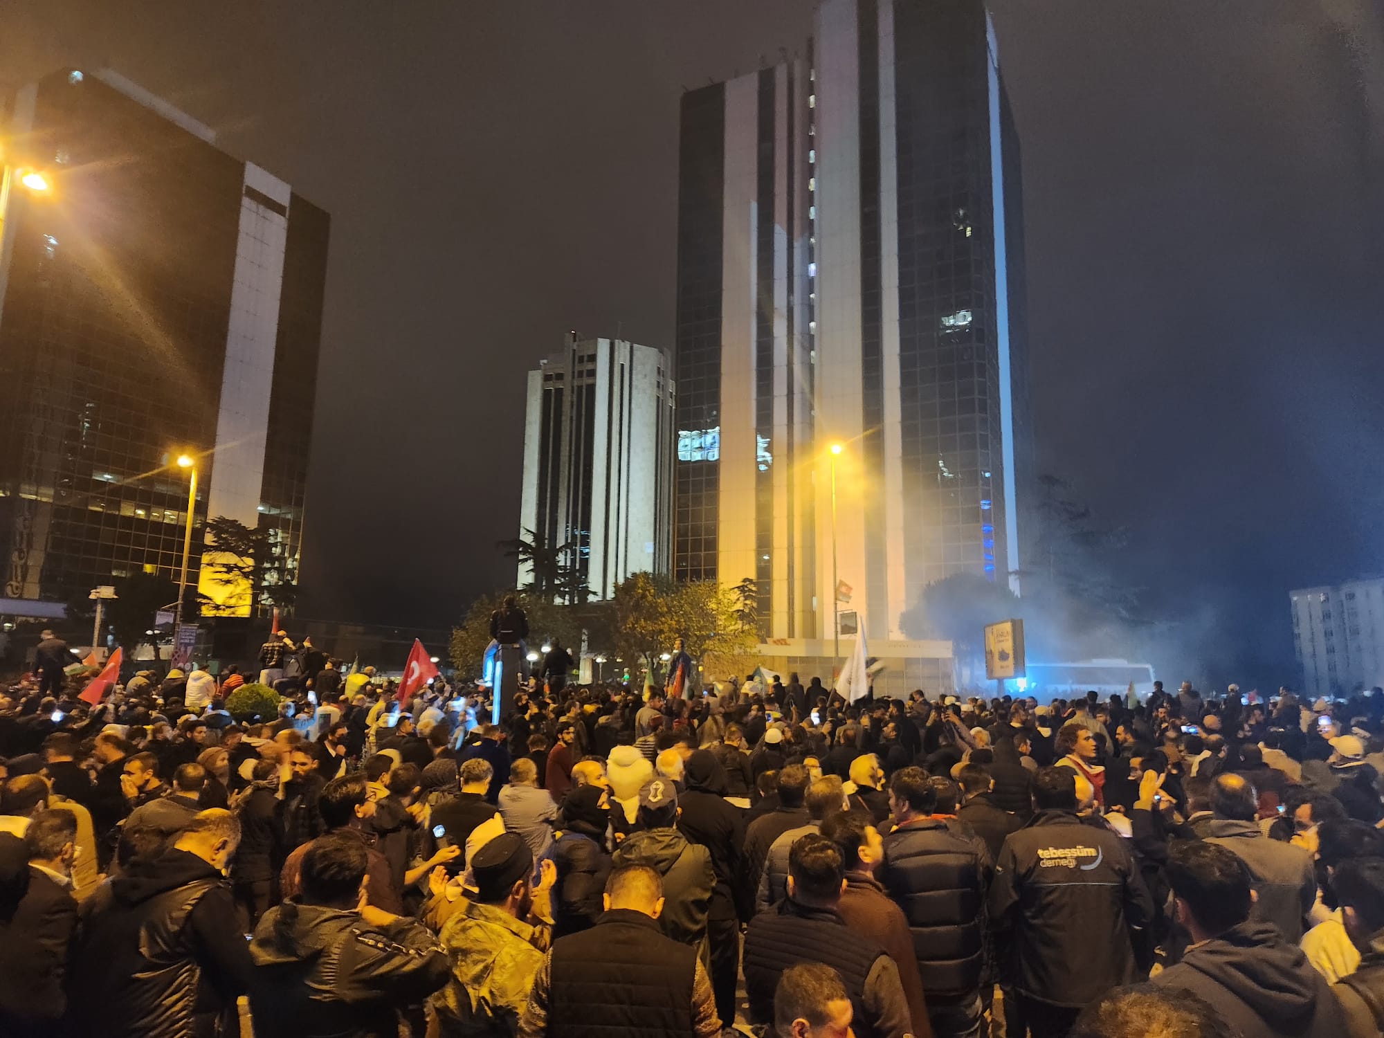
<path id="1" fill-rule="evenodd" d="M 929 1001 L 980 988 L 991 872 L 984 841 L 940 819 L 918 818 L 884 837 L 880 880 L 908 916 Z"/>

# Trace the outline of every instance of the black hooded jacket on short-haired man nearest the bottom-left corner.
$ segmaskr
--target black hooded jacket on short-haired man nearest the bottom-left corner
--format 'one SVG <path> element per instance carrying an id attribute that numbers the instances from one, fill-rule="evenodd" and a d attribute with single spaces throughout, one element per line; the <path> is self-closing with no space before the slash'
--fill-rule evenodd
<path id="1" fill-rule="evenodd" d="M 251 956 L 221 873 L 187 851 L 137 859 L 84 922 L 72 959 L 75 1034 L 188 1038 L 245 992 Z"/>

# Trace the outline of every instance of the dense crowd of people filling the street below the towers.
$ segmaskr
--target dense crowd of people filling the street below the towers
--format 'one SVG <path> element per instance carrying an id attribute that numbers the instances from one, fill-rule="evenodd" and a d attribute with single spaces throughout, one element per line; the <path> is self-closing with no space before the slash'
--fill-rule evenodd
<path id="1" fill-rule="evenodd" d="M 0 698 L 0 1034 L 1384 1034 L 1378 689 L 563 673 L 490 724 L 313 663 L 239 721 L 195 666 Z"/>

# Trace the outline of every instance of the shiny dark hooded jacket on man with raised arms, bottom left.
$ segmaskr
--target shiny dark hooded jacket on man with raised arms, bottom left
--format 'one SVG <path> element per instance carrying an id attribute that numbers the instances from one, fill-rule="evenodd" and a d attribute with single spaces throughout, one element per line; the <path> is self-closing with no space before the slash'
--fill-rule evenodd
<path id="1" fill-rule="evenodd" d="M 367 926 L 356 912 L 285 901 L 251 941 L 256 1038 L 394 1038 L 396 1006 L 447 983 L 447 955 L 412 919 Z"/>

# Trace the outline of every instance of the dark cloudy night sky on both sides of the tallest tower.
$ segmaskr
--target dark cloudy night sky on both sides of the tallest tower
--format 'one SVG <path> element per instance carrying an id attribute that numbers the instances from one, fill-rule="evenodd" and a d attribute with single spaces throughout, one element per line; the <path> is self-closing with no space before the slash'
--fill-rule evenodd
<path id="1" fill-rule="evenodd" d="M 811 11 L 8 0 L 0 75 L 113 68 L 332 213 L 300 612 L 446 627 L 512 580 L 523 372 L 570 328 L 671 346 L 682 87 Z M 1291 681 L 1287 591 L 1384 572 L 1384 15 L 992 11 L 1041 471 L 1193 620 L 1161 677 Z"/>

